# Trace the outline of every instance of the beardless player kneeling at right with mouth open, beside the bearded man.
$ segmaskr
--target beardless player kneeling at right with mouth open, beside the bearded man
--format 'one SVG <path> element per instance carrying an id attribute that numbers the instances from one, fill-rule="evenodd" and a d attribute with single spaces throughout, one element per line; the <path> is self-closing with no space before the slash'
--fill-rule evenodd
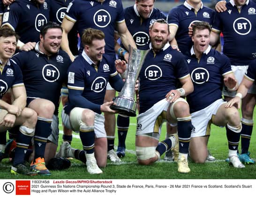
<path id="1" fill-rule="evenodd" d="M 226 108 L 222 99 L 223 83 L 229 90 L 238 87 L 232 72 L 229 59 L 211 49 L 211 27 L 207 22 L 196 22 L 193 26 L 190 55 L 186 58 L 188 69 L 194 83 L 194 92 L 187 96 L 195 130 L 191 133 L 190 156 L 196 163 L 206 161 L 207 128 L 209 123 L 226 126 L 228 140 L 228 156 L 230 164 L 236 168 L 243 168 L 237 156 L 240 139 L 240 115 L 234 106 Z"/>

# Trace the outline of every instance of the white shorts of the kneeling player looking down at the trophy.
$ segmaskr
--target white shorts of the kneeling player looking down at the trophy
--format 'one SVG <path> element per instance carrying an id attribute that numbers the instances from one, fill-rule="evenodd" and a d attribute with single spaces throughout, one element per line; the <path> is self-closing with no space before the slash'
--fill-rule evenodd
<path id="1" fill-rule="evenodd" d="M 78 107 L 75 107 L 72 109 L 73 112 L 75 111 L 76 116 L 80 116 L 80 120 L 82 117 L 83 110 L 84 110 L 83 108 L 78 108 Z M 64 110 L 61 111 L 61 119 L 62 119 L 62 123 L 67 128 L 72 129 L 73 131 L 79 131 L 79 127 L 80 127 L 79 120 L 74 120 L 74 122 L 71 126 L 70 121 L 72 121 L 72 119 L 70 119 L 69 115 L 67 113 L 65 113 Z M 98 113 L 95 113 L 95 119 L 94 119 L 95 138 L 105 138 L 106 137 L 104 122 L 105 122 L 104 116 L 102 116 Z"/>

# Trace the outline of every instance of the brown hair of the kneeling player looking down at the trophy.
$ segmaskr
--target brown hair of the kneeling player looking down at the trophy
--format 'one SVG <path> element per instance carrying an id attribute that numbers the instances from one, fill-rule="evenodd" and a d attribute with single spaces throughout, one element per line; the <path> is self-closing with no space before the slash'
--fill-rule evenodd
<path id="1" fill-rule="evenodd" d="M 102 30 L 87 28 L 83 30 L 83 35 L 81 39 L 82 39 L 83 46 L 91 45 L 92 41 L 95 39 L 98 39 L 98 40 L 105 39 L 105 34 Z"/>

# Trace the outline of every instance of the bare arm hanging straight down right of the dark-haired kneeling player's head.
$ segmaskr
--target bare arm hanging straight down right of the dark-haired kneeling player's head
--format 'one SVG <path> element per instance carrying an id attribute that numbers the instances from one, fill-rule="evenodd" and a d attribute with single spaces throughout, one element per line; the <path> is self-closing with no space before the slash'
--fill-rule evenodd
<path id="1" fill-rule="evenodd" d="M 74 61 L 75 56 L 72 54 L 72 52 L 70 51 L 70 48 L 69 48 L 68 33 L 73 28 L 74 25 L 75 25 L 75 23 L 71 22 L 66 17 L 63 18 L 63 21 L 61 23 L 63 33 L 62 33 L 62 40 L 61 40 L 60 47 L 63 51 L 68 53 L 68 56 L 69 56 L 69 58 L 71 59 L 72 62 Z"/>

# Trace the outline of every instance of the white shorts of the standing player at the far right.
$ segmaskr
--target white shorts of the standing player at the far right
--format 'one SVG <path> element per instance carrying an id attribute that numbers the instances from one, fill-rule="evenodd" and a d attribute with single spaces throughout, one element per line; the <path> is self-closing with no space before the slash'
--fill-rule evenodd
<path id="1" fill-rule="evenodd" d="M 244 65 L 244 66 L 234 66 L 234 65 L 232 65 L 231 68 L 232 68 L 232 71 L 235 75 L 236 80 L 238 81 L 238 84 L 240 85 L 241 81 L 243 80 L 244 74 L 247 72 L 248 65 Z M 255 84 L 253 84 L 248 89 L 248 93 L 256 94 L 256 85 Z M 236 94 L 236 91 L 229 91 L 229 90 L 226 89 L 226 87 L 223 87 L 222 94 L 224 96 L 234 97 L 235 94 Z"/>

